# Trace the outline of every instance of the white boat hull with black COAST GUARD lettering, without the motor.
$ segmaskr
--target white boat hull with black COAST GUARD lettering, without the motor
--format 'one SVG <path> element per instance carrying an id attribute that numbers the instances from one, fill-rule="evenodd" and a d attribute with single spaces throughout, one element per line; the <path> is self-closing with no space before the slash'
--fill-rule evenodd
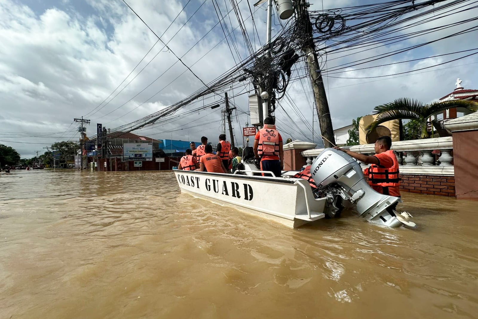
<path id="1" fill-rule="evenodd" d="M 297 178 L 174 170 L 181 191 L 297 228 L 325 217 L 326 198 L 315 199 Z"/>

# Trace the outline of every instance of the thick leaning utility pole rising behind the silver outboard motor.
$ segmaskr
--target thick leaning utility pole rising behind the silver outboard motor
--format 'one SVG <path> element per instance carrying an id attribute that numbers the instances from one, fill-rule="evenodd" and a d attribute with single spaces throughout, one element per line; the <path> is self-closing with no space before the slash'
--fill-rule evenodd
<path id="1" fill-rule="evenodd" d="M 314 91 L 315 104 L 317 105 L 320 131 L 322 136 L 325 137 L 324 146 L 332 147 L 333 145 L 329 141 L 335 143 L 334 129 L 332 128 L 332 120 L 330 118 L 326 88 L 324 87 L 324 80 L 322 79 L 322 73 L 315 52 L 312 23 L 310 22 L 309 12 L 307 11 L 309 5 L 310 4 L 306 0 L 300 0 L 297 5 L 297 20 L 300 20 L 299 23 L 304 26 L 304 35 L 307 38 L 302 46 L 302 51 L 304 51 L 307 56 L 307 65 L 309 67 L 312 90 Z"/>

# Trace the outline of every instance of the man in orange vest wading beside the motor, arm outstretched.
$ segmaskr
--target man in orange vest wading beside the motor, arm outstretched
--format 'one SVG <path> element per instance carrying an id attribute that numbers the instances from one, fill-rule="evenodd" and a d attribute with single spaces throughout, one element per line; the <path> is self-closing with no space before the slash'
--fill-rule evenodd
<path id="1" fill-rule="evenodd" d="M 369 176 L 369 185 L 383 195 L 400 197 L 400 176 L 398 161 L 391 148 L 390 136 L 382 136 L 375 142 L 375 155 L 367 156 L 344 150 L 340 147 L 335 149 L 343 151 L 360 162 L 371 164 L 364 170 L 364 175 Z M 394 210 L 398 203 L 390 206 Z M 387 209 L 387 210 L 389 210 Z M 389 210 L 389 211 L 390 211 Z"/>

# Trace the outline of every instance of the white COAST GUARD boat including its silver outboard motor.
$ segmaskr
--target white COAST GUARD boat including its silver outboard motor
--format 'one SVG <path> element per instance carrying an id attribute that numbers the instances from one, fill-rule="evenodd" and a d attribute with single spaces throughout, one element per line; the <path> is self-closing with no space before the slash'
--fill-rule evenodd
<path id="1" fill-rule="evenodd" d="M 250 162 L 251 163 L 251 162 Z M 174 170 L 182 192 L 217 204 L 259 215 L 297 228 L 328 217 L 338 217 L 344 208 L 355 206 L 359 217 L 375 224 L 414 226 L 410 214 L 390 207 L 400 198 L 383 195 L 367 184 L 359 163 L 348 154 L 326 148 L 313 161 L 311 174 L 317 189 L 293 178 L 254 176 L 262 173 L 246 165 L 246 175 Z M 236 172 L 237 173 L 237 172 Z"/>

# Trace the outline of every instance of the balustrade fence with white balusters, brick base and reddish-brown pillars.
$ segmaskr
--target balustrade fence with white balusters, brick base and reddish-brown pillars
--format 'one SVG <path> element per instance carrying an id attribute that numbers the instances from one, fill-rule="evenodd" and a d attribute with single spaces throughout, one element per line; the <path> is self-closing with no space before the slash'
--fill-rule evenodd
<path id="1" fill-rule="evenodd" d="M 478 113 L 447 120 L 445 127 L 452 136 L 392 143 L 400 164 L 401 190 L 478 200 Z M 298 140 L 285 144 L 284 169 L 299 170 L 312 164 L 324 150 L 315 147 Z M 343 148 L 375 154 L 374 144 Z"/>

